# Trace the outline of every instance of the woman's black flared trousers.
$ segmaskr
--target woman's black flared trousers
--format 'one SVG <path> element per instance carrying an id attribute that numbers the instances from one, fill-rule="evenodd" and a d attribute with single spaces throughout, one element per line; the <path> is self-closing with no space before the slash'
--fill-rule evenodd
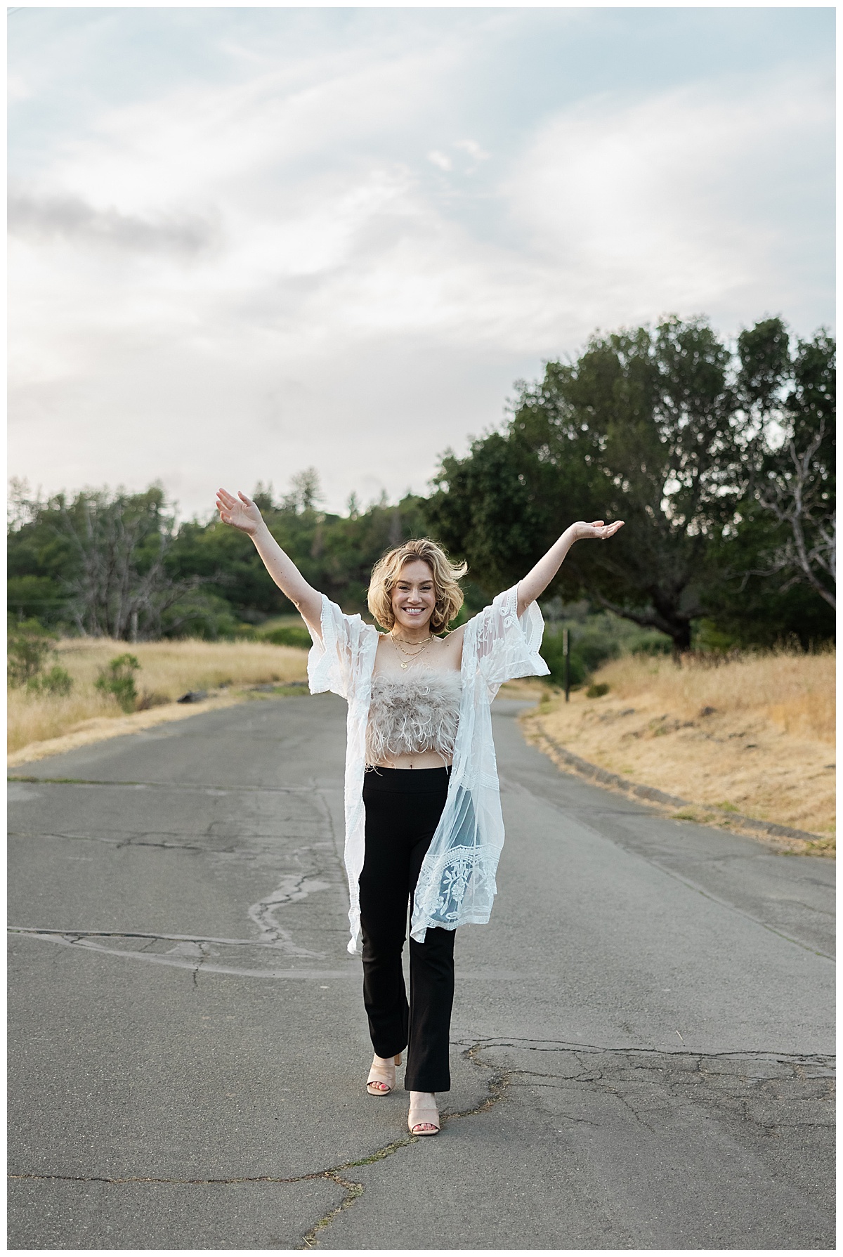
<path id="1" fill-rule="evenodd" d="M 455 930 L 410 940 L 410 1003 L 401 953 L 407 908 L 445 807 L 447 768 L 366 773 L 366 859 L 361 872 L 363 1003 L 377 1056 L 407 1048 L 407 1091 L 450 1091 Z"/>

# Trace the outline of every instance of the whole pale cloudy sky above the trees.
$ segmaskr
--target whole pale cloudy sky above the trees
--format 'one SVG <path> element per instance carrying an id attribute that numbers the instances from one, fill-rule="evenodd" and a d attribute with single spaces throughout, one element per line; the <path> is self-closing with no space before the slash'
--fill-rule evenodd
<path id="1" fill-rule="evenodd" d="M 10 471 L 423 491 L 596 328 L 833 318 L 832 9 L 13 9 Z"/>

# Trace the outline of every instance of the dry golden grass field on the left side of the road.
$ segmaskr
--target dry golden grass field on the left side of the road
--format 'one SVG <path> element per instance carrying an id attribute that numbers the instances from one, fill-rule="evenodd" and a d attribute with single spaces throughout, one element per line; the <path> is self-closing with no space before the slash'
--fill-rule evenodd
<path id="1" fill-rule="evenodd" d="M 269 642 L 155 641 L 129 645 L 101 637 L 68 639 L 58 642 L 57 649 L 59 662 L 74 681 L 67 698 L 9 691 L 8 749 L 18 753 L 18 762 L 23 762 L 21 748 L 34 743 L 103 728 L 103 720 L 126 722 L 117 701 L 94 689 L 99 669 L 116 655 L 128 652 L 139 660 L 141 671 L 136 674 L 138 694 L 156 695 L 162 704 L 163 700 L 172 704 L 186 690 L 214 691 L 222 686 L 236 690 L 246 685 L 302 681 L 307 678 L 307 651 Z M 128 727 L 123 724 L 119 728 L 146 727 L 173 719 L 182 711 L 185 715 L 195 714 L 196 710 L 173 710 L 162 705 L 160 714 L 138 713 L 128 718 Z M 146 719 L 139 720 L 139 716 Z"/>

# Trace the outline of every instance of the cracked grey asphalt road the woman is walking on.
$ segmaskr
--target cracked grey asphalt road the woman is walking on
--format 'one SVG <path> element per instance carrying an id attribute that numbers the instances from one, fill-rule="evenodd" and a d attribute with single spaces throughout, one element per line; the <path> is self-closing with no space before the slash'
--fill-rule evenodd
<path id="1" fill-rule="evenodd" d="M 15 769 L 11 1248 L 830 1248 L 830 861 L 560 773 L 457 935 L 451 1114 L 366 1094 L 344 704 Z"/>

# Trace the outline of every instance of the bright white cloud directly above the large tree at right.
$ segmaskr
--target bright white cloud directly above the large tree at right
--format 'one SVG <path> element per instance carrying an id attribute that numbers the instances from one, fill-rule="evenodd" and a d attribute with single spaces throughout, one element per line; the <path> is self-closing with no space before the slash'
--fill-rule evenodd
<path id="1" fill-rule="evenodd" d="M 830 84 L 802 77 L 598 99 L 541 128 L 504 195 L 534 255 L 604 326 L 607 313 L 760 313 L 770 297 L 793 314 L 802 277 L 783 253 L 810 219 L 810 181 L 830 191 L 832 117 Z M 794 163 L 808 182 L 794 186 Z"/>

